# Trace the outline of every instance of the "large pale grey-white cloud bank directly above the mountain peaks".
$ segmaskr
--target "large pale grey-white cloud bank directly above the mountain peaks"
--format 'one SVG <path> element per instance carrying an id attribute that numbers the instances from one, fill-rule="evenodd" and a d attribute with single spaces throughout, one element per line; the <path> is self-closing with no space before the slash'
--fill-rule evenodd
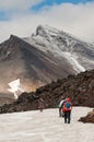
<path id="1" fill-rule="evenodd" d="M 31 13 L 27 10 L 22 14 L 16 12 L 11 21 L 0 22 L 1 40 L 8 38 L 10 34 L 30 36 L 38 24 L 48 24 L 84 40 L 93 42 L 94 2 L 78 5 L 70 3 L 54 5 L 44 8 L 37 13 Z"/>

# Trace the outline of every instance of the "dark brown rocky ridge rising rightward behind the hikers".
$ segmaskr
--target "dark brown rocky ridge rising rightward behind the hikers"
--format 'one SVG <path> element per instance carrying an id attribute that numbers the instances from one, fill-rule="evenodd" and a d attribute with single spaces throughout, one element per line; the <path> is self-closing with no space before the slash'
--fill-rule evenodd
<path id="1" fill-rule="evenodd" d="M 55 108 L 62 96 L 70 97 L 74 106 L 94 107 L 94 70 L 69 75 L 36 92 L 23 93 L 13 104 L 0 107 L 0 113 L 35 110 L 39 109 L 40 104 L 44 108 Z"/>

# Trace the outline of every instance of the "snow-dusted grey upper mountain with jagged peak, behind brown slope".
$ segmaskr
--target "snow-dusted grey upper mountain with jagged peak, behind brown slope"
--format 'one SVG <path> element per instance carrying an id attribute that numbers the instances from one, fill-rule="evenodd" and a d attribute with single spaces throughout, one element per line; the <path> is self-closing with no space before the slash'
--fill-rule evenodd
<path id="1" fill-rule="evenodd" d="M 39 25 L 35 34 L 24 39 L 44 52 L 67 59 L 78 73 L 94 68 L 94 47 L 62 31 Z"/>

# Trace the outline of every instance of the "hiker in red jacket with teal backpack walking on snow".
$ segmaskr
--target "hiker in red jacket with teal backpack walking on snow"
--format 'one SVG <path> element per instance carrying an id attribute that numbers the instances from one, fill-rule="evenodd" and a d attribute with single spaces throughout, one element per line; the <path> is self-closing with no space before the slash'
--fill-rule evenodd
<path id="1" fill-rule="evenodd" d="M 70 116 L 71 116 L 72 104 L 70 98 L 67 98 L 67 102 L 63 104 L 62 110 L 64 113 L 64 123 L 70 123 Z"/>

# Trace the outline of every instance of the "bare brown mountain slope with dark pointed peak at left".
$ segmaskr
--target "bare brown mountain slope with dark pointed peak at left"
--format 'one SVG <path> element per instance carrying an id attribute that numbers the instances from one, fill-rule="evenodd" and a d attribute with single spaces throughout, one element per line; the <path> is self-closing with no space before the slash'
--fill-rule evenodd
<path id="1" fill-rule="evenodd" d="M 67 70 L 69 69 L 69 70 Z M 74 73 L 63 59 L 46 54 L 23 39 L 11 36 L 0 45 L 0 92 L 8 92 L 8 83 L 21 79 L 21 87 L 33 91 L 36 87 Z"/>

